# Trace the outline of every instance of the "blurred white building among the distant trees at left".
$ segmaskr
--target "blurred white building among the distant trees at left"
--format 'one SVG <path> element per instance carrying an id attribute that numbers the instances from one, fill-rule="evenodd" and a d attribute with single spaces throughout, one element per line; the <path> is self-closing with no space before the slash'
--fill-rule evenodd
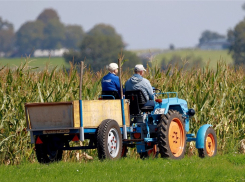
<path id="1" fill-rule="evenodd" d="M 34 57 L 62 57 L 63 54 L 67 51 L 68 49 L 65 49 L 65 48 L 56 49 L 56 50 L 37 49 L 34 51 L 33 56 Z"/>

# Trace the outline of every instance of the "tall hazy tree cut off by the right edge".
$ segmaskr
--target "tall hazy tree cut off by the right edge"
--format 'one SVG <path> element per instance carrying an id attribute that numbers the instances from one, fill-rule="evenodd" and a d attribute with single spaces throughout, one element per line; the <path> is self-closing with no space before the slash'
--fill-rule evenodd
<path id="1" fill-rule="evenodd" d="M 227 33 L 228 41 L 231 43 L 230 53 L 234 59 L 234 64 L 245 64 L 245 19 L 239 22 L 234 30 L 229 30 Z"/>

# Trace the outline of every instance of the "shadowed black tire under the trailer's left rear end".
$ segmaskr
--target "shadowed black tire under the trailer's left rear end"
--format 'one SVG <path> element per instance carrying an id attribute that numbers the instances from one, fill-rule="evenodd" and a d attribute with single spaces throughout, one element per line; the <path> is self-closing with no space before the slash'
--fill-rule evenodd
<path id="1" fill-rule="evenodd" d="M 36 156 L 39 163 L 51 163 L 62 160 L 63 150 L 57 149 L 57 144 L 54 143 L 52 137 L 37 136 L 42 140 L 42 144 L 36 144 Z M 60 145 L 60 144 L 59 144 Z"/>

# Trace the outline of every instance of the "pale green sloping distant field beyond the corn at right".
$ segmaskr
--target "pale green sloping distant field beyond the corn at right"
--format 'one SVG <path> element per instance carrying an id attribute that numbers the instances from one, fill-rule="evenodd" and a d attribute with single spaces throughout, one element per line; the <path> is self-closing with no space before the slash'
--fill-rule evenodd
<path id="1" fill-rule="evenodd" d="M 198 50 L 198 49 L 183 49 L 168 51 L 155 56 L 154 60 L 160 63 L 163 58 L 170 61 L 173 55 L 178 55 L 182 60 L 186 60 L 187 56 L 195 58 L 200 57 L 204 63 L 209 62 L 209 67 L 215 69 L 218 61 L 224 61 L 227 64 L 232 64 L 233 60 L 228 50 Z M 188 60 L 187 60 L 188 61 Z"/>

